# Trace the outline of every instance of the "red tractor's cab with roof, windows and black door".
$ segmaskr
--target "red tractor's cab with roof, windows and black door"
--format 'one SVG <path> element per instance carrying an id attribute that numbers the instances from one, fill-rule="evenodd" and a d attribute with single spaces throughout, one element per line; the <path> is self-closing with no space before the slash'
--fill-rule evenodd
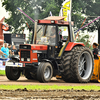
<path id="1" fill-rule="evenodd" d="M 52 16 L 35 22 L 33 44 L 47 47 L 47 58 L 58 57 L 66 41 L 74 41 L 72 23 L 63 19 L 64 17 Z"/>

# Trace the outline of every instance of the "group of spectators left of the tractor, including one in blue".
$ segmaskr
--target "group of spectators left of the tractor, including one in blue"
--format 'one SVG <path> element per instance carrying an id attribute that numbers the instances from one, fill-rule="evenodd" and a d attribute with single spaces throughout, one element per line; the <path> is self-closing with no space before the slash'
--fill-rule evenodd
<path id="1" fill-rule="evenodd" d="M 19 49 L 15 45 L 4 43 L 0 46 L 0 58 L 9 58 L 9 55 L 18 55 Z"/>

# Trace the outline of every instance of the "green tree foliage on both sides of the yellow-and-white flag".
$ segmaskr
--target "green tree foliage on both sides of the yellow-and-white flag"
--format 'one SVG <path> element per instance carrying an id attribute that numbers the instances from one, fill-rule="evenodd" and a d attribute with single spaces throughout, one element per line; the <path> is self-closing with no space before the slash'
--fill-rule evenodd
<path id="1" fill-rule="evenodd" d="M 27 15 L 29 15 L 33 20 L 43 19 L 49 16 L 51 11 L 54 16 L 59 15 L 61 9 L 61 4 L 64 0 L 1 0 L 2 6 L 5 7 L 6 11 L 9 11 L 10 17 L 6 19 L 6 23 L 11 25 L 12 31 L 14 33 L 22 33 L 22 30 L 29 26 L 33 26 L 34 23 L 18 11 L 17 7 L 23 10 Z M 82 22 L 86 18 L 85 24 L 92 21 L 94 18 L 100 15 L 99 6 L 100 0 L 72 0 L 72 21 L 74 22 L 75 31 L 79 29 Z M 90 16 L 90 17 L 89 17 Z M 94 17 L 91 17 L 94 16 Z M 100 20 L 95 21 L 88 27 L 82 29 L 87 29 L 88 31 L 94 31 L 99 29 Z M 28 27 L 27 27 L 28 29 Z"/>

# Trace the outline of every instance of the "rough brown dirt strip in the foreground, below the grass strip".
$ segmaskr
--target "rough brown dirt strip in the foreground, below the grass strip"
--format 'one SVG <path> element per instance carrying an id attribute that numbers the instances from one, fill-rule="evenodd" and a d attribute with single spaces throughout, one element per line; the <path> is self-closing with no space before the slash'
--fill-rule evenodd
<path id="1" fill-rule="evenodd" d="M 0 90 L 0 100 L 100 100 L 100 91 Z"/>

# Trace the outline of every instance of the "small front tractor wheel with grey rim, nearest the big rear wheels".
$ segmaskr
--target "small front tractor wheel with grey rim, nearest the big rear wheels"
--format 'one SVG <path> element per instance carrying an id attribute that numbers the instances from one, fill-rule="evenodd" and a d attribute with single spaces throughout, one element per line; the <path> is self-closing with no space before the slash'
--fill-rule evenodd
<path id="1" fill-rule="evenodd" d="M 37 69 L 37 79 L 39 82 L 49 82 L 53 75 L 53 68 L 48 62 L 41 62 Z"/>

